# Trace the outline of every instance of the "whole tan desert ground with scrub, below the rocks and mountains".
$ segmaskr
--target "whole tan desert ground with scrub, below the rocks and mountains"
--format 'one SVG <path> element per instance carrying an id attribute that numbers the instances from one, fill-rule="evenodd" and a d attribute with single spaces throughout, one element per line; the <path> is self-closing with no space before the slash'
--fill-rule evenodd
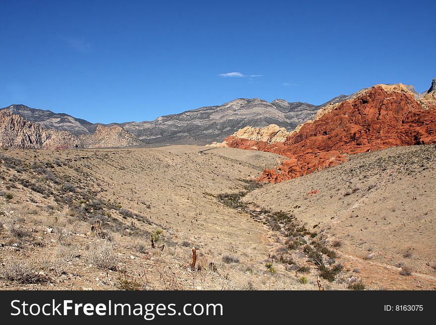
<path id="1" fill-rule="evenodd" d="M 318 276 L 327 290 L 436 286 L 434 146 L 255 182 L 283 159 L 188 145 L 2 150 L 0 286 L 318 290 Z"/>

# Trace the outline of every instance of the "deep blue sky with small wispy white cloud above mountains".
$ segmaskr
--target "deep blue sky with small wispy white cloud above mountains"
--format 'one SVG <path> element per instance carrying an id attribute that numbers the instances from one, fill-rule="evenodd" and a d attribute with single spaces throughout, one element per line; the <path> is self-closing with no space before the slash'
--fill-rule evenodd
<path id="1" fill-rule="evenodd" d="M 436 77 L 436 1 L 0 0 L 0 107 L 152 120 Z"/>

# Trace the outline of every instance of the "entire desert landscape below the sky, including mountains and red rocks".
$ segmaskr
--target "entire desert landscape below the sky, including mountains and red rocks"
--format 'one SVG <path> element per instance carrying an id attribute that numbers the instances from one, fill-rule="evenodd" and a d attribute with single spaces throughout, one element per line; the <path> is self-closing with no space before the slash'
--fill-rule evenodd
<path id="1" fill-rule="evenodd" d="M 436 79 L 108 125 L 11 105 L 0 146 L 1 289 L 436 289 Z"/>

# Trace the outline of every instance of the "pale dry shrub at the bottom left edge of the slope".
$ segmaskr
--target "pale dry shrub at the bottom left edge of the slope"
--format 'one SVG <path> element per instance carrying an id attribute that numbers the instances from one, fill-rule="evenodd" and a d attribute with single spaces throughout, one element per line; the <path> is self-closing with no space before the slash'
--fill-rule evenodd
<path id="1" fill-rule="evenodd" d="M 32 260 L 29 261 L 6 261 L 1 269 L 1 276 L 9 281 L 19 283 L 40 283 L 47 281 L 45 276 L 38 273 L 38 268 Z"/>

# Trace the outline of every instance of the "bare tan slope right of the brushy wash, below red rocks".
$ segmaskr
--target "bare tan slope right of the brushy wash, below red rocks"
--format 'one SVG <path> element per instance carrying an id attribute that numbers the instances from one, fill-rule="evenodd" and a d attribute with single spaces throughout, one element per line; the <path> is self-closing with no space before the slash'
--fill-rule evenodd
<path id="1" fill-rule="evenodd" d="M 249 193 L 292 212 L 337 245 L 341 262 L 376 288 L 436 286 L 436 146 L 351 155 L 321 172 Z M 411 276 L 400 275 L 401 268 Z M 357 271 L 357 270 L 356 270 Z M 406 272 L 407 273 L 407 272 Z"/>

